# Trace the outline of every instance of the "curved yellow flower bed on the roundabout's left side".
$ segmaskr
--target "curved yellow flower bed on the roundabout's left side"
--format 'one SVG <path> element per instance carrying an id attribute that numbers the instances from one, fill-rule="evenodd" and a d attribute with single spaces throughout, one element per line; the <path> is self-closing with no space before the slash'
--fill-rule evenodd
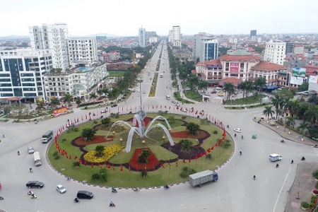
<path id="1" fill-rule="evenodd" d="M 119 153 L 120 151 L 122 151 L 123 148 L 124 146 L 120 146 L 118 144 L 107 146 L 105 147 L 105 150 L 102 151 L 102 153 L 104 154 L 102 155 L 102 157 L 96 157 L 96 151 L 89 151 L 84 155 L 84 159 L 90 163 L 104 163 L 107 160 L 110 160 L 110 158 L 112 158 L 116 154 L 115 152 Z"/>

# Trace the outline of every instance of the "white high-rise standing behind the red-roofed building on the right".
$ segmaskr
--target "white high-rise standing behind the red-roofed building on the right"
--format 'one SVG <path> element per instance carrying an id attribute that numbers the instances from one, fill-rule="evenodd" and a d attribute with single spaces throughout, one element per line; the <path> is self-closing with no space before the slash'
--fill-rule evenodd
<path id="1" fill-rule="evenodd" d="M 280 40 L 269 40 L 266 42 L 264 61 L 283 65 L 286 57 L 286 43 Z"/>

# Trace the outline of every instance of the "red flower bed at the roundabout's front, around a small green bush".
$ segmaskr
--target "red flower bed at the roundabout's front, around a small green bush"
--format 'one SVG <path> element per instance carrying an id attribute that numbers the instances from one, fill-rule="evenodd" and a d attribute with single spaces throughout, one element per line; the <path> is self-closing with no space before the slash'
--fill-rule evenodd
<path id="1" fill-rule="evenodd" d="M 138 162 L 138 155 L 144 150 L 147 149 L 151 155 L 148 158 L 148 163 L 139 163 Z M 146 170 L 153 171 L 153 167 L 158 166 L 159 160 L 155 158 L 155 155 L 149 148 L 136 148 L 134 151 L 134 155 L 132 155 L 131 159 L 129 160 L 129 165 L 131 166 L 131 170 Z"/>

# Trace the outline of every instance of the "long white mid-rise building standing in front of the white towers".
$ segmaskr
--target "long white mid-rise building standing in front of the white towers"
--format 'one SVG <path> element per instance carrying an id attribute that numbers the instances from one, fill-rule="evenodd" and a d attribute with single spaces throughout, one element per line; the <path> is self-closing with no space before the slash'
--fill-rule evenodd
<path id="1" fill-rule="evenodd" d="M 45 93 L 47 100 L 58 98 L 63 101 L 66 93 L 73 96 L 73 101 L 80 99 L 85 102 L 89 100 L 90 93 L 106 84 L 109 73 L 106 64 L 96 67 L 79 67 L 69 73 L 47 73 L 44 76 Z"/>

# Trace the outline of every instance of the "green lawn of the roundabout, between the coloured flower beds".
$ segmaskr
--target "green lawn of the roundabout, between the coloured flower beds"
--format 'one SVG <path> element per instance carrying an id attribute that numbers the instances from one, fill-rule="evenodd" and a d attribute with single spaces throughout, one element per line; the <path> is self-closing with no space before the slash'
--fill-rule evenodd
<path id="1" fill-rule="evenodd" d="M 148 114 L 147 117 L 154 118 L 158 114 Z M 168 118 L 172 114 L 163 114 L 163 117 Z M 181 115 L 173 115 L 175 119 L 182 119 Z M 119 119 L 126 120 L 133 117 L 133 115 L 124 115 L 123 117 L 119 117 L 118 119 L 112 118 L 112 122 L 116 122 Z M 211 136 L 204 141 L 204 143 L 201 145 L 202 148 L 207 149 L 211 148 L 221 137 L 222 137 L 222 130 L 218 129 L 216 126 L 208 124 L 208 123 L 201 123 L 199 119 L 194 119 L 192 117 L 187 117 L 185 120 L 187 122 L 195 122 L 196 124 L 200 125 L 200 129 L 208 131 Z M 163 123 L 163 122 L 161 122 Z M 100 120 L 98 120 L 98 124 L 100 124 Z M 182 124 L 181 121 L 176 120 L 174 124 L 171 124 L 172 126 L 172 132 L 173 131 L 183 131 L 185 130 L 185 126 L 179 126 Z M 78 131 L 69 131 L 69 133 L 65 132 L 64 134 L 61 134 L 59 136 L 59 146 L 61 149 L 65 150 L 68 155 L 72 156 L 72 159 L 74 156 L 81 155 L 81 151 L 79 151 L 78 148 L 71 146 L 71 140 L 76 138 L 77 136 L 80 136 L 81 131 L 88 127 L 93 127 L 95 124 L 93 123 L 86 123 L 81 124 L 78 126 Z M 127 127 L 128 129 L 128 127 Z M 213 131 L 217 130 L 218 134 L 213 134 Z M 98 135 L 106 135 L 108 131 L 98 131 Z M 110 133 L 112 135 L 112 133 Z M 87 142 L 86 149 L 88 151 L 91 151 L 95 148 L 97 145 L 105 145 L 110 146 L 112 144 L 122 144 L 123 146 L 126 146 L 126 136 L 128 135 L 127 130 L 118 132 L 115 134 L 114 141 L 109 141 L 107 143 L 99 143 L 99 144 L 89 144 L 89 141 Z M 134 139 L 132 141 L 131 145 L 131 152 L 125 153 L 124 151 L 117 154 L 117 156 L 114 156 L 110 159 L 110 163 L 128 163 L 131 159 L 131 156 L 134 154 L 134 150 L 136 148 L 142 148 L 143 143 L 141 141 L 146 141 L 145 147 L 151 148 L 153 153 L 155 154 L 156 158 L 158 160 L 170 160 L 177 158 L 177 155 L 174 153 L 171 153 L 170 151 L 167 151 L 165 148 L 161 147 L 160 145 L 163 143 L 162 136 L 164 135 L 163 131 L 160 129 L 153 129 L 149 134 L 149 138 L 138 138 L 137 136 L 134 136 Z M 123 138 L 124 141 L 120 143 L 119 139 Z M 66 139 L 65 142 L 61 142 L 62 139 Z M 174 139 L 175 143 L 179 142 L 181 139 Z M 196 144 L 195 139 L 190 139 L 194 145 Z M 167 142 L 167 139 L 165 139 L 165 142 Z M 163 184 L 168 183 L 176 183 L 176 182 L 182 182 L 187 181 L 186 178 L 179 177 L 179 173 L 182 171 L 182 167 L 189 167 L 193 168 L 197 172 L 202 170 L 215 170 L 217 166 L 225 163 L 226 160 L 230 157 L 230 154 L 233 151 L 233 146 L 230 146 L 230 148 L 223 148 L 218 147 L 215 148 L 214 151 L 211 151 L 212 160 L 206 160 L 205 157 L 199 158 L 198 160 L 194 160 L 192 158 L 192 162 L 189 163 L 187 160 L 187 163 L 182 163 L 182 160 L 179 160 L 178 167 L 176 167 L 175 163 L 171 163 L 171 167 L 169 168 L 168 164 L 165 164 L 165 169 L 162 167 L 158 170 L 152 171 L 153 167 L 147 167 L 148 168 L 148 177 L 144 178 L 141 177 L 140 172 L 129 172 L 129 170 L 126 170 L 124 168 L 123 172 L 119 171 L 119 167 L 115 167 L 115 171 L 111 169 L 107 169 L 107 182 L 101 182 L 98 180 L 91 179 L 91 175 L 93 175 L 93 172 L 99 172 L 100 167 L 90 167 L 90 163 L 88 163 L 86 166 L 81 165 L 80 167 L 73 167 L 73 162 L 76 160 L 69 160 L 66 159 L 64 156 L 60 156 L 59 159 L 54 160 L 53 153 L 56 151 L 56 148 L 54 146 L 54 143 L 52 146 L 50 146 L 48 151 L 48 157 L 50 163 L 62 174 L 70 176 L 74 179 L 78 179 L 80 181 L 86 180 L 88 183 L 92 184 L 100 184 L 102 186 L 114 186 L 114 187 L 153 187 L 153 186 L 159 186 Z M 105 165 L 102 165 L 102 167 L 105 167 Z"/>

